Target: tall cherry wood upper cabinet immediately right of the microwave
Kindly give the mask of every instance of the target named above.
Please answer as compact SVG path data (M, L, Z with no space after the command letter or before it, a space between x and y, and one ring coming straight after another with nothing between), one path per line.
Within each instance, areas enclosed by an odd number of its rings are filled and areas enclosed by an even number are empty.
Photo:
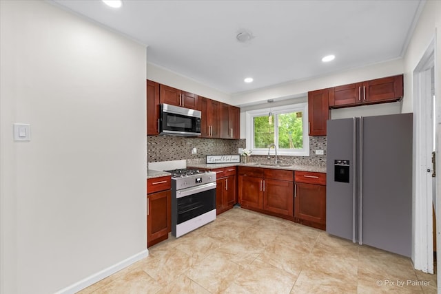
M202 138L220 138L220 102L199 96Z

